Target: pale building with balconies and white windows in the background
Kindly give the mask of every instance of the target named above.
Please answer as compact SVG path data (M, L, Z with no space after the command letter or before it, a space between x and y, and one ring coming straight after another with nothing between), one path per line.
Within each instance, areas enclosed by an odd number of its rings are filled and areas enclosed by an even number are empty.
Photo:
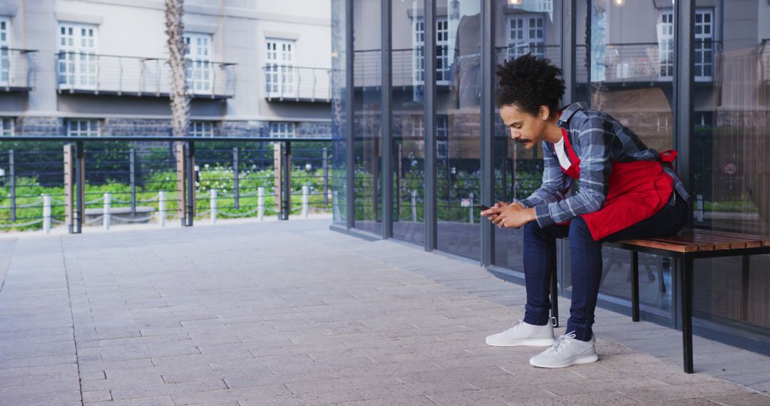
M189 135L330 133L330 2L186 0ZM170 135L162 0L0 1L4 135Z

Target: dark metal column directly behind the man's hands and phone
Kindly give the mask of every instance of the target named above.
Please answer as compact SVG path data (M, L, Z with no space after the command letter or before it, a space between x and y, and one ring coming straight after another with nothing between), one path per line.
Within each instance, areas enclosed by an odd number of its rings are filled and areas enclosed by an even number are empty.
M481 2L481 204L494 201L494 13L497 2ZM494 228L491 221L481 221L481 266L492 265Z

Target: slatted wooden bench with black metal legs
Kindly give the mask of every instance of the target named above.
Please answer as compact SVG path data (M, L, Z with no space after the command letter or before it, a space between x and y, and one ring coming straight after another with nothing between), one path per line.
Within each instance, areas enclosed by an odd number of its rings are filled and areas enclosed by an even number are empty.
M743 256L742 289L748 291L748 255L770 254L770 237L743 235L724 231L685 229L668 237L642 238L605 243L604 246L632 251L631 254L631 319L639 321L639 252L676 258L671 280L678 293L681 309L681 334L684 348L685 372L693 373L692 364L692 278L693 261L699 258ZM556 272L551 279L551 316L558 324ZM675 298L677 295L674 296ZM676 304L675 304L676 305ZM748 312L748 301L742 305L742 314ZM676 316L674 316L676 318Z

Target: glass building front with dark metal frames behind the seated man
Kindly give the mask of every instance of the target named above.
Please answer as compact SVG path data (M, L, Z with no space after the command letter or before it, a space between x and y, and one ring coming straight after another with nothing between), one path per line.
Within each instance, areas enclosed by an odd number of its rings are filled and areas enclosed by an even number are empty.
M564 105L607 111L676 149L691 226L770 235L767 0L333 0L333 228L397 238L523 281L522 236L474 204L525 198L540 148L508 138L495 65L564 71ZM568 241L559 290L571 295ZM601 304L629 311L630 254L604 249ZM678 327L673 260L641 255L643 317ZM748 265L748 266L744 266ZM770 351L770 258L695 262L695 333ZM646 273L644 272L646 271ZM629 311L630 312L630 311Z

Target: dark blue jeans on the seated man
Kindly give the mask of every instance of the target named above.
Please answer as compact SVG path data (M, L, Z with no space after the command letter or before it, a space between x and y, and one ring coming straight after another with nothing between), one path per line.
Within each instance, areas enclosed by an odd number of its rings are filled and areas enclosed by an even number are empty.
M574 331L578 340L588 341L593 334L594 309L601 284L601 243L630 238L673 235L687 222L687 201L678 193L651 218L639 221L601 241L594 241L588 225L580 216L570 225L541 228L533 221L524 225L524 278L527 283L527 305L524 322L544 325L549 321L551 301L551 269L555 269L556 239L569 238L572 252L572 305L567 332Z

